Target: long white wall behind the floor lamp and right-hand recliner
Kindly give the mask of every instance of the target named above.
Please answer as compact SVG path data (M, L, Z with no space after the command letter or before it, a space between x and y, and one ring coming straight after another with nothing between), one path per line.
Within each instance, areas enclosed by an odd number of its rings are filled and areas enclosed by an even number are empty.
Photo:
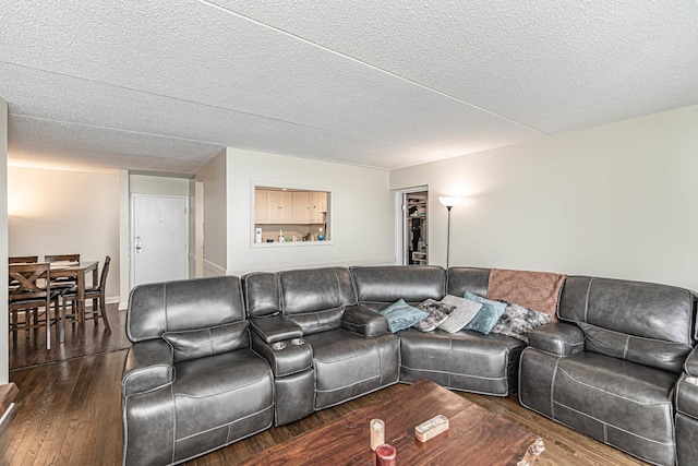
M430 256L450 265L650 280L698 290L698 106L395 170L429 184Z

